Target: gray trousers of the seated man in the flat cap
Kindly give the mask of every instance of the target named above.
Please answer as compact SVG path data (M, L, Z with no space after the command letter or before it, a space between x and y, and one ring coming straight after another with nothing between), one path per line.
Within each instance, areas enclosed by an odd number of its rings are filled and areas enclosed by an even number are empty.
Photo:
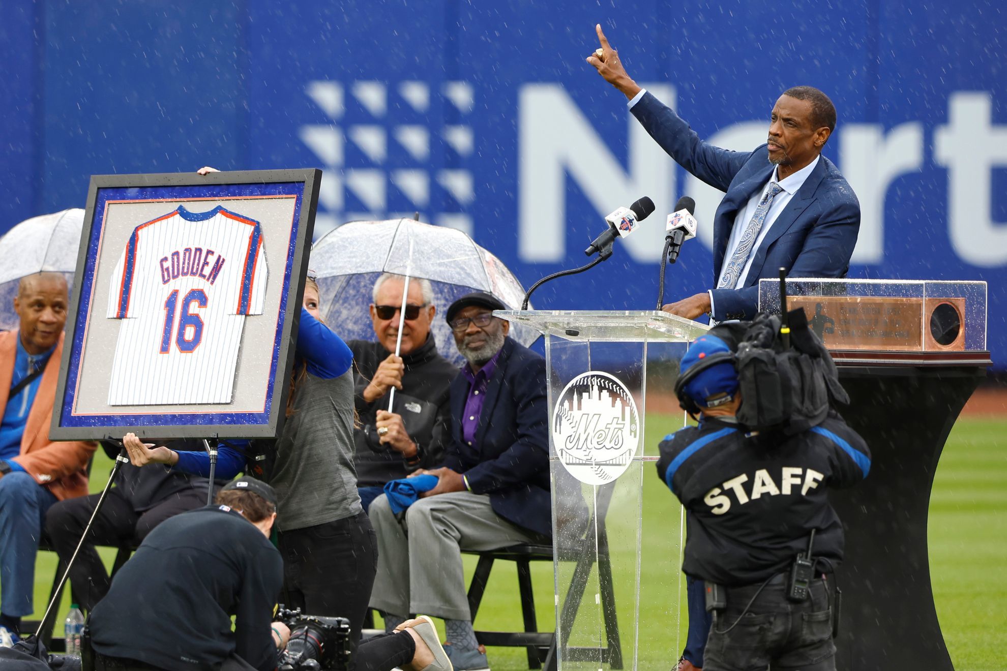
M400 523L383 494L371 504L378 575L371 607L408 618L471 620L461 550L492 550L535 540L497 516L485 494L450 492L419 499Z

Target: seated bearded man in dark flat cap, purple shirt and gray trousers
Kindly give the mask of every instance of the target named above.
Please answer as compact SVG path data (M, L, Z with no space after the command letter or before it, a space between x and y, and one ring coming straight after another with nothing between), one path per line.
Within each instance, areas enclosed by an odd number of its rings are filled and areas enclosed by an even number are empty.
M447 310L468 361L451 383L452 440L437 476L396 518L381 496L371 504L378 576L371 606L386 629L412 613L443 618L457 671L488 669L472 631L460 550L550 543L546 361L508 337L505 306L489 294L463 296Z

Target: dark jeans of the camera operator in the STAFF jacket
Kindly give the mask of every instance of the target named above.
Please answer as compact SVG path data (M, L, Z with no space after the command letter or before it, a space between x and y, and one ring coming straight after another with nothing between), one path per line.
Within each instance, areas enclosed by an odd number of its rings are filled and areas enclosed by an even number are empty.
M713 617L703 671L764 671L770 665L772 671L834 671L825 580L813 580L811 598L795 604L785 596L786 576L775 575L744 613L758 588L727 590L727 608Z

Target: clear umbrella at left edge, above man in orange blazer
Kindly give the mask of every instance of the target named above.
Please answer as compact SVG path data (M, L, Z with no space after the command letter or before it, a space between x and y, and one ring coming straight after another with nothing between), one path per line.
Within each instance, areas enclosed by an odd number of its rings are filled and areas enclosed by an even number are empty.
M0 237L0 330L18 326L14 297L26 275L62 273L73 289L83 226L84 210L75 207L25 219Z

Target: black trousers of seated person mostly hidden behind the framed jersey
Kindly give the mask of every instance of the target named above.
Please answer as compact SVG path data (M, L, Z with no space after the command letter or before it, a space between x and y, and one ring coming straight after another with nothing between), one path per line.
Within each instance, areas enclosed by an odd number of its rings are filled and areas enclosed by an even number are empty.
M92 494L66 499L49 508L45 515L45 532L61 559L69 561L74 555L100 497L101 494ZM88 542L81 548L69 571L69 581L74 594L81 600L81 608L91 612L108 594L112 582L95 545L139 544L164 520L204 505L206 490L186 489L139 513L115 490L109 492L88 532Z

